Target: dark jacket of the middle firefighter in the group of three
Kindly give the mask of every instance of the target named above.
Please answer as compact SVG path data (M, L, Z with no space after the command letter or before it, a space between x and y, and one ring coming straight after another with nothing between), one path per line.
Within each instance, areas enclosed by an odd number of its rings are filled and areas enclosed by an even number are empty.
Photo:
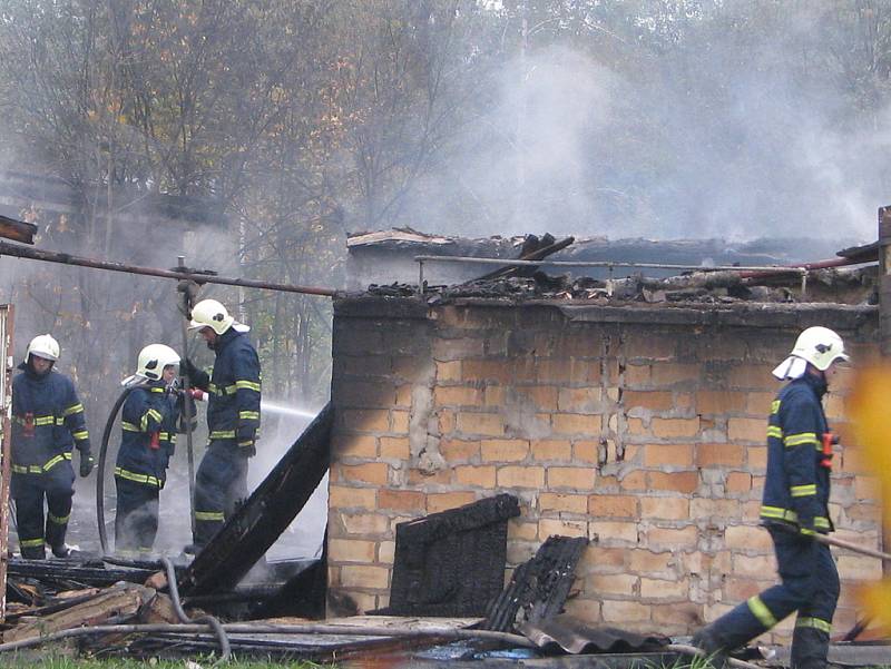
M115 475L164 488L167 464L174 454L182 400L168 393L163 381L130 391L121 411L121 440ZM153 434L157 433L157 447Z

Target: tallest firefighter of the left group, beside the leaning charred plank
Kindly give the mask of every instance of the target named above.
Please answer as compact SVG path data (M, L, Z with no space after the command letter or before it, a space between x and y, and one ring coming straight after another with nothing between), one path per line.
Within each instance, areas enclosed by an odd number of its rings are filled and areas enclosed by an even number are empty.
M195 480L195 532L187 552L198 552L247 496L247 460L256 454L260 429L260 358L245 333L216 299L192 309L197 329L214 352L210 375L183 361L192 385L208 393L207 450Z

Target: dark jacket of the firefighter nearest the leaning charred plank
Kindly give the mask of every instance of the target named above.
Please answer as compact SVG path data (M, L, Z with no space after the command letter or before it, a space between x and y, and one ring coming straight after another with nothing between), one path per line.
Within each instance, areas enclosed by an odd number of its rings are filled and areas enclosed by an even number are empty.
M208 437L237 440L253 449L260 429L260 358L247 335L231 327L217 340L213 373L195 374L193 385L206 390Z

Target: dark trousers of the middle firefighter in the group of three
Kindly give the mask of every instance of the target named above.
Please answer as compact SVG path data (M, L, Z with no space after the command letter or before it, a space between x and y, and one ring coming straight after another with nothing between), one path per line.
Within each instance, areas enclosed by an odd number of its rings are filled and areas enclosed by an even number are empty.
M115 552L129 558L150 553L158 533L158 488L120 476L115 476Z

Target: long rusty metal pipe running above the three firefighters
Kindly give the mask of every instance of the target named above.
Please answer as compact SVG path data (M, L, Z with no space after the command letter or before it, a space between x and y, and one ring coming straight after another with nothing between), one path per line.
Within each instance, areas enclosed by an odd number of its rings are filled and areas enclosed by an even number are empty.
M42 260L45 263L59 263L62 265L76 265L78 267L91 267L92 269L107 269L109 272L123 272L125 274L141 274L157 278L173 278L175 281L194 281L196 284L222 284L225 286L239 286L244 288L263 288L265 291L281 291L283 293L302 293L304 295L322 295L333 297L336 291L332 288L320 288L317 286L297 286L292 284L273 284L268 282L255 281L251 278L229 278L215 274L202 274L190 272L174 272L172 269L158 269L156 267L139 267L125 263L109 263L108 260L96 260L94 258L82 258L67 253L55 250L41 250L27 246L18 246L8 242L0 242L0 256L13 256L29 260Z

